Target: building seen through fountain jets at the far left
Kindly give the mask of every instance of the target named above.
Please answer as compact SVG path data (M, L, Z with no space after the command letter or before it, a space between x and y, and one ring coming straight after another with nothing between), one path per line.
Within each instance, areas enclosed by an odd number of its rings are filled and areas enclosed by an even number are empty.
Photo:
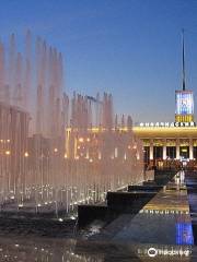
M26 183L30 115L0 102L0 191L13 193Z

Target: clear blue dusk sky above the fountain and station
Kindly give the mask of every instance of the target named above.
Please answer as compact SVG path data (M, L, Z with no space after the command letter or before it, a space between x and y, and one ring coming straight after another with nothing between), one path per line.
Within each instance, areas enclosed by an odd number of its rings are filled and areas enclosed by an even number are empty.
M197 117L196 0L1 0L0 38L30 28L63 55L65 90L111 92L135 121L172 121L181 88L185 28L186 88Z

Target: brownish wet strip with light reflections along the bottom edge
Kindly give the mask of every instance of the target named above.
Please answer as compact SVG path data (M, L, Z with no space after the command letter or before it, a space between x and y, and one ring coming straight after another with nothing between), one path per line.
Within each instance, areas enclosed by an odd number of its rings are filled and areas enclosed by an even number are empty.
M192 260L193 259L193 260ZM45 238L0 238L0 261L104 262L104 261L195 261L190 246L121 245Z

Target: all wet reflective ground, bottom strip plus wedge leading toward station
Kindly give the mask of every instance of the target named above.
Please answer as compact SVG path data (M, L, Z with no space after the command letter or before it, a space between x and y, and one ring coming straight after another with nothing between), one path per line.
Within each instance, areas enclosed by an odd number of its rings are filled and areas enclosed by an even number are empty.
M97 221L67 238L1 234L0 261L197 261L189 198L181 172L138 214L123 214L107 226Z

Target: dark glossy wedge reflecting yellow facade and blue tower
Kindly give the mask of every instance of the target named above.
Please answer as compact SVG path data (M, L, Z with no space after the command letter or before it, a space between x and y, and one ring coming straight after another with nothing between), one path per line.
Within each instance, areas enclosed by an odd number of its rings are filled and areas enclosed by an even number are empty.
M193 245L184 174L176 175L137 215L120 215L101 233L91 236L91 239L111 239L126 243Z

